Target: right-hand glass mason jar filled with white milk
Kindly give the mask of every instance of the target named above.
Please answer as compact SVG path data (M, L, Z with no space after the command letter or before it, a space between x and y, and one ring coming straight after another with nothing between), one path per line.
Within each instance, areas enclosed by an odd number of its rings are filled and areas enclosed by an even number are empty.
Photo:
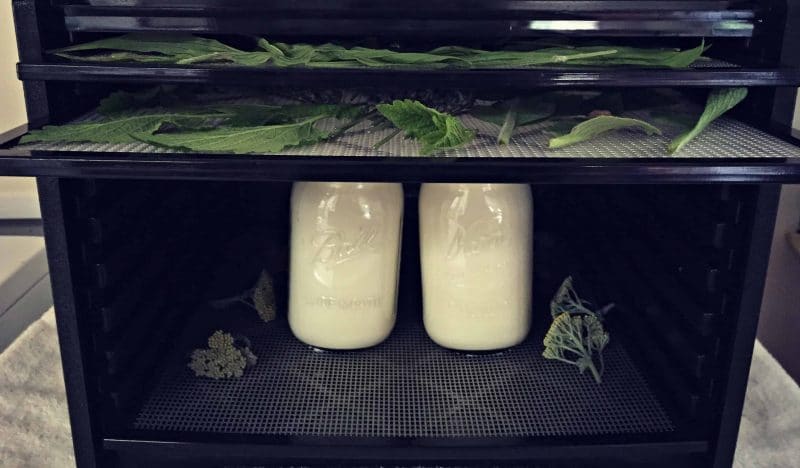
M521 184L423 184L425 330L441 346L519 344L531 323L533 200Z

